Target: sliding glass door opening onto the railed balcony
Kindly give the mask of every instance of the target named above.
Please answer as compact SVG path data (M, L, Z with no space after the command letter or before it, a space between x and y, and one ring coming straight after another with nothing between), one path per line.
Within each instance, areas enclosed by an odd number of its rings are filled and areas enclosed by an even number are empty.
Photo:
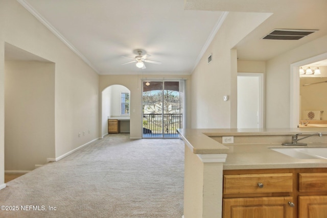
M143 138L177 138L183 128L184 81L143 81Z

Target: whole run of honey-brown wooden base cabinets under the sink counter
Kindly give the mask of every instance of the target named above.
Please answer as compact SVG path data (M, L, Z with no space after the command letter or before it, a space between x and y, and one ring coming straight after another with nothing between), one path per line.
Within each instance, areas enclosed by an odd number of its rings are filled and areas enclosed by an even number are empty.
M327 168L223 171L223 218L326 218Z

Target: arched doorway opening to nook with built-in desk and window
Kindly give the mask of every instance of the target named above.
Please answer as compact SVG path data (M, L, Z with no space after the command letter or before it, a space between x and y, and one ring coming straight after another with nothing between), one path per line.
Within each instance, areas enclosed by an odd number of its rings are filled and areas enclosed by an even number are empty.
M108 119L117 120L118 132L130 132L130 90L110 85L102 91L102 136L108 134Z

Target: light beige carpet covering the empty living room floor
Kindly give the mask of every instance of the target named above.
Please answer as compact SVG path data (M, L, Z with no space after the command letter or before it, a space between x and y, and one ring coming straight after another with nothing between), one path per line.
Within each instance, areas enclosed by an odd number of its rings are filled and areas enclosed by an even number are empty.
M0 206L19 210L0 210L0 217L181 218L183 154L180 139L107 135L8 182L0 190ZM22 211L22 205L39 210Z

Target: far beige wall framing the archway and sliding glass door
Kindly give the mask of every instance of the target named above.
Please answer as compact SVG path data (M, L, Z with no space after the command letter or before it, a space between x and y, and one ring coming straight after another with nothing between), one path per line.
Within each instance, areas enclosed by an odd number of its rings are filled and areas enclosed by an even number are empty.
M101 75L99 92L101 93L106 87L111 85L123 85L130 90L130 138L142 137L142 78L151 79L186 79L186 126L190 123L191 110L191 76L189 75ZM102 107L100 107L102 108ZM100 113L102 114L102 112ZM104 123L107 117L101 117L101 122ZM103 128L104 127L100 127Z

